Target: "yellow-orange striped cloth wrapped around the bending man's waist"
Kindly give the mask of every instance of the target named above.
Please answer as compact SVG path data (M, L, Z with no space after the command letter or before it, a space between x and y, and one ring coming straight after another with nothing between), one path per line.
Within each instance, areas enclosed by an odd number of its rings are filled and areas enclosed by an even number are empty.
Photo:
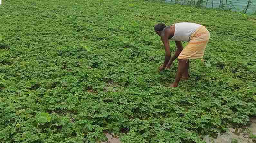
M209 31L204 26L201 26L190 37L191 40L182 50L178 59L202 59L204 57L204 50L210 38Z

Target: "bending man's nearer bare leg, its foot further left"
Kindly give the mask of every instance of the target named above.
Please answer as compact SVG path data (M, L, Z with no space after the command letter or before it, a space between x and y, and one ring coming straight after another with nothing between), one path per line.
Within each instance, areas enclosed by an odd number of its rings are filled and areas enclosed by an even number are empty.
M181 79L181 76L184 74L185 69L186 69L187 60L178 59L178 61L179 61L179 63L178 63L177 75L176 75L175 81L171 85L171 87L177 87L178 86L178 83L179 83L179 81Z

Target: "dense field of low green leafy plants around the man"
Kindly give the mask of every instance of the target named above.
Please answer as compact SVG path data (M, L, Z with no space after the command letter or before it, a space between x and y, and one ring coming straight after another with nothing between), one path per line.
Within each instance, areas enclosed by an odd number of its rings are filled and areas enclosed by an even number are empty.
M203 142L256 116L256 20L144 0L4 0L0 142ZM169 88L159 22L210 31L204 62ZM186 43L183 43L184 46ZM170 42L175 52L174 42Z

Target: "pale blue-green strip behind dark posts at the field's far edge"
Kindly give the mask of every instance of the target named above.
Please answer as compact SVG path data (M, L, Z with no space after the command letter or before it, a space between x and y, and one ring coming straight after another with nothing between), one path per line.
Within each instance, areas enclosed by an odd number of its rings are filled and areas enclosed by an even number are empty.
M182 4L182 5L187 5L187 4L196 4L198 1L201 0L165 0L166 2L169 3L177 3L177 4ZM203 7L208 7L208 8L219 8L220 3L223 9L232 9L233 11L239 11L242 12L245 10L248 4L248 0L202 0L203 1ZM247 12L248 14L253 14L256 12L256 0L250 0L251 4L249 5ZM207 5L206 5L207 2Z

